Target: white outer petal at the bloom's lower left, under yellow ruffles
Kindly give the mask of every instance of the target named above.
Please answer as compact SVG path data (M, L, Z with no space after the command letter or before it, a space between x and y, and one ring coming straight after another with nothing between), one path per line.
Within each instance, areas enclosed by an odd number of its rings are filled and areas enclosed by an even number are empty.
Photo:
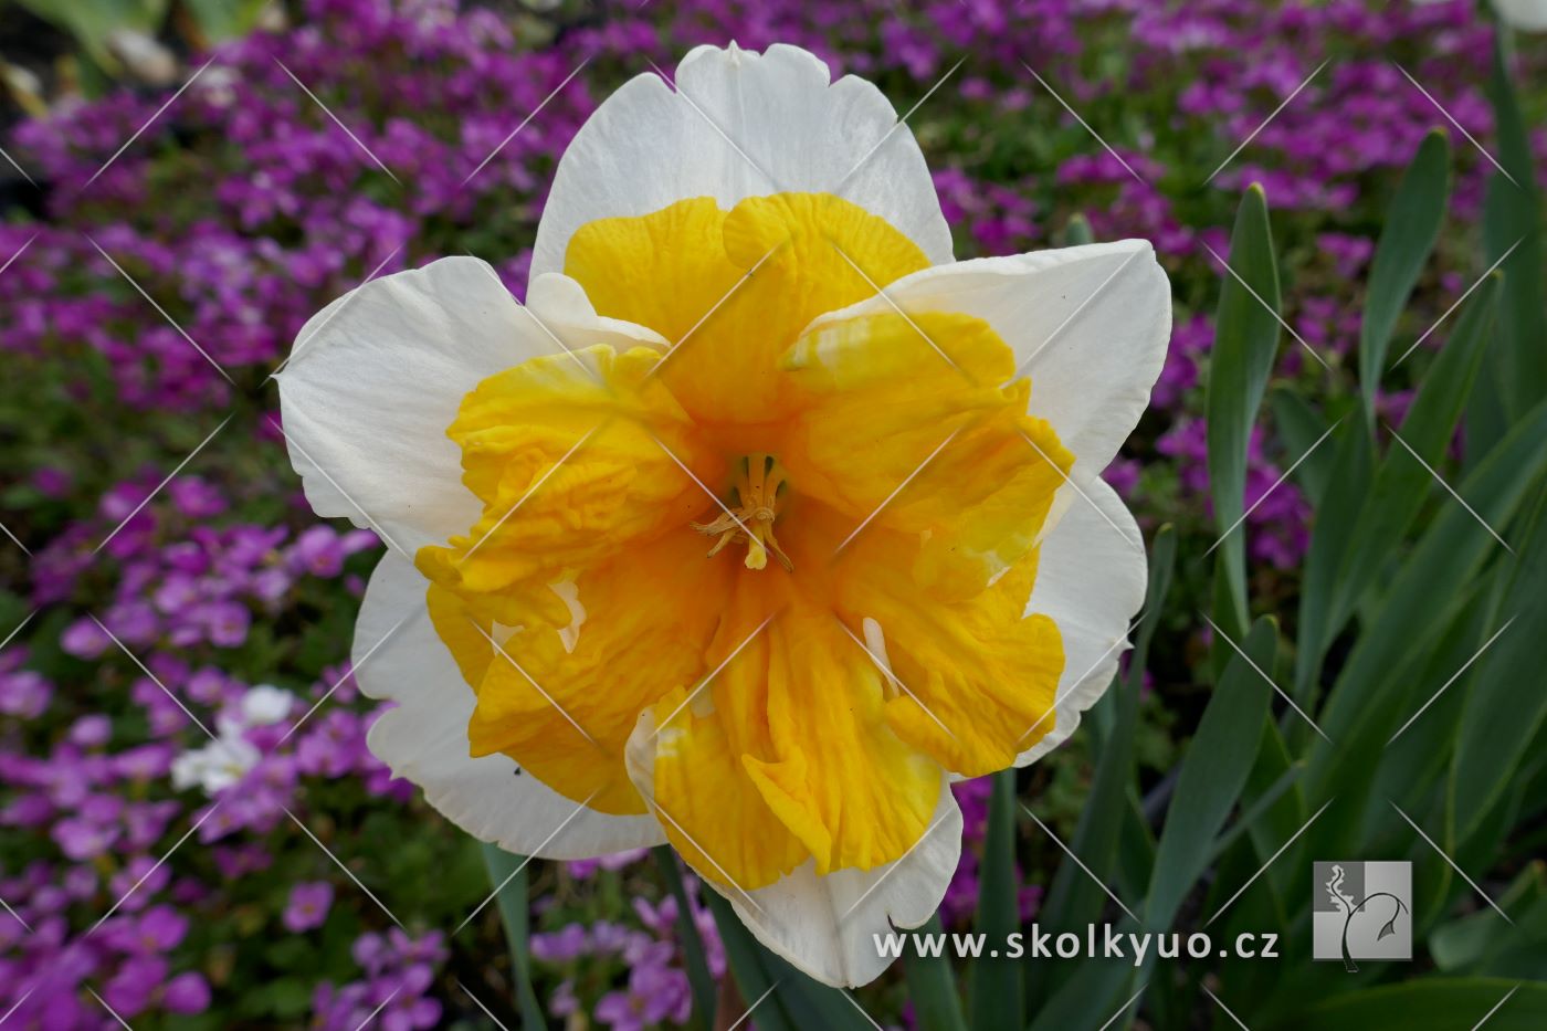
M387 553L371 574L354 629L360 690L396 701L371 726L371 752L473 837L543 859L586 859L665 841L653 816L608 816L577 807L506 755L467 754L473 692L425 610L427 582ZM500 661L500 659L495 659Z

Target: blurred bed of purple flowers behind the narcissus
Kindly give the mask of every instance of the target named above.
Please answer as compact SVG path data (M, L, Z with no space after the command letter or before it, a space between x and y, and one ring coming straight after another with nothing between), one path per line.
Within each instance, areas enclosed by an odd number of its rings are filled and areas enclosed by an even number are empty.
M62 104L5 141L39 184L0 223L11 1026L118 1026L93 994L136 1028L509 1012L492 907L464 924L489 892L475 844L365 748L373 711L347 655L381 548L309 517L268 378L309 314L373 276L475 254L520 296L554 163L625 77L698 42L800 43L876 79L900 111L927 98L910 125L959 257L1057 246L1081 217L1095 238L1154 240L1176 333L1156 407L1109 478L1146 529L1174 522L1194 553L1210 540L1214 255L1241 189L1262 183L1273 204L1284 317L1304 337L1278 382L1320 404L1354 389L1397 170L1434 125L1482 146L1491 133L1479 70L1493 31L1465 0L308 0L291 23L195 56L179 90ZM1533 142L1547 153L1547 136ZM1482 271L1470 255L1491 167L1463 142L1457 155L1439 271L1405 316L1414 336ZM1248 506L1293 458L1253 443ZM1289 481L1252 511L1256 598L1295 596L1307 517ZM1196 567L1180 574L1187 598L1207 596ZM1196 714L1199 641L1185 616L1170 630L1146 670L1149 779ZM1067 825L1080 742L1036 777ZM987 782L958 794L968 847L948 927L976 904ZM1023 850L1026 915L1040 859L1057 858L1046 848ZM554 1017L687 1020L676 901L642 858L534 865L532 955ZM695 918L718 974L713 923ZM908 1020L897 978L863 997Z

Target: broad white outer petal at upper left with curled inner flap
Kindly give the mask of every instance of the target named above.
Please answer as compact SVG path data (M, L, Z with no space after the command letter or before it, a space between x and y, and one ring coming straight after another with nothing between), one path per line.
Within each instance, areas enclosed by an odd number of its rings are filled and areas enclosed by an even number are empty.
M278 375L280 410L319 516L345 516L408 554L467 533L481 506L446 429L480 379L562 347L665 347L599 319L562 276L529 293L523 308L486 262L450 257L374 279L302 327Z

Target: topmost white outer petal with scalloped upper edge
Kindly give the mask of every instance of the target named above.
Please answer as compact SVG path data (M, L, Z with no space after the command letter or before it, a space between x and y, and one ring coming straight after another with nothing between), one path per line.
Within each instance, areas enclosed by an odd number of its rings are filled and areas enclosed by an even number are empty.
M838 194L885 218L931 263L950 262L950 228L913 132L873 84L831 77L798 46L758 54L732 43L690 51L676 90L651 73L630 79L565 150L532 274L563 271L569 238L597 218L690 197L729 209L784 190Z

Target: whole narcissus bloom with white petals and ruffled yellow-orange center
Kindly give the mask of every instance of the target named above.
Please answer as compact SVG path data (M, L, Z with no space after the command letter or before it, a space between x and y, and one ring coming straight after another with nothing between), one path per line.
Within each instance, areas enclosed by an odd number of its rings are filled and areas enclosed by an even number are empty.
M1143 241L953 263L913 135L809 53L628 82L524 307L435 262L280 379L312 508L393 546L371 749L511 851L671 842L775 952L871 980L956 867L951 780L1112 676L1145 562L1098 474L1168 334Z

